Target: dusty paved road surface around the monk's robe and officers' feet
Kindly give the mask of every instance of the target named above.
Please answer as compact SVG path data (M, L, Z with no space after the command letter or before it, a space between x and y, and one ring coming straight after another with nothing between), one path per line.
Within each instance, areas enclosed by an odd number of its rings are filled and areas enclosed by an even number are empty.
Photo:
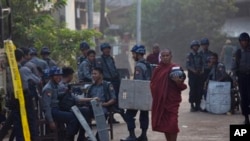
M182 93L182 103L179 111L178 141L229 141L229 125L240 124L243 117L240 113L234 115L215 115L204 112L189 112L188 92ZM139 115L139 114L138 114ZM115 115L119 121L122 121L119 115ZM136 119L136 135L140 135L139 120ZM151 123L150 123L151 124ZM114 125L114 141L120 141L120 138L128 135L127 127L124 121ZM149 141L165 141L162 133L153 132L151 126L148 130Z

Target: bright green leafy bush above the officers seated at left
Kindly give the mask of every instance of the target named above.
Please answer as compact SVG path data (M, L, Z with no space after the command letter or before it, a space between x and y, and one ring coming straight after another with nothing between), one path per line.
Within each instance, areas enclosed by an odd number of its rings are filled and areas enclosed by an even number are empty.
M74 31L65 28L65 24L57 23L51 16L43 17L41 25L30 27L28 38L33 39L34 46L40 49L48 46L51 56L60 65L70 65L76 68L76 57L79 53L79 44L83 40L95 46L93 37L100 37L95 30Z

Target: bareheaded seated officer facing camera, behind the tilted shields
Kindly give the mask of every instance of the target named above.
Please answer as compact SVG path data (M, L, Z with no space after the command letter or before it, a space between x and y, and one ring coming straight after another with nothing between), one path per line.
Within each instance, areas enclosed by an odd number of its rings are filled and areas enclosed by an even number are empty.
M105 114L109 108L116 103L115 90L110 82L103 80L103 71L101 68L94 68L92 71L94 83L89 87L87 97L98 97L102 103Z

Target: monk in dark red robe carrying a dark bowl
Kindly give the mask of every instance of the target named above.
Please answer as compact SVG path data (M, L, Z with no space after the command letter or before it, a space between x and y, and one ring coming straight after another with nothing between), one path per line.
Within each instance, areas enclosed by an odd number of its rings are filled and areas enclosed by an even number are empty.
M165 133L167 141L176 141L181 91L187 85L178 76L169 77L172 68L177 66L171 63L172 54L169 49L163 50L159 59L159 66L155 68L150 84L153 97L152 128Z

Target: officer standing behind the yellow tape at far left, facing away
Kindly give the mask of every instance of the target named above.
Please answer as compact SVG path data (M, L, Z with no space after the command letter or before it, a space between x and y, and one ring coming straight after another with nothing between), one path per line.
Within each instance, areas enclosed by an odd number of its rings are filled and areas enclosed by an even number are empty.
M35 84L38 84L41 82L41 79L37 77L35 74L31 72L31 70L28 67L22 66L21 63L23 61L24 53L21 49L15 50L15 56L19 67L19 72L22 80L23 85L23 93L24 93L24 99L25 99L25 107L27 110L27 117L28 117L28 123L30 127L30 133L31 133L31 140L36 140L36 137L38 136L37 129L36 129L36 115L34 112L34 105L32 101L32 95L29 91L29 81L32 81ZM22 122L20 117L20 109L18 101L16 101L17 105L13 108L13 124L14 124L14 134L16 136L17 141L23 141L23 129L22 129ZM15 104L13 104L15 105Z

